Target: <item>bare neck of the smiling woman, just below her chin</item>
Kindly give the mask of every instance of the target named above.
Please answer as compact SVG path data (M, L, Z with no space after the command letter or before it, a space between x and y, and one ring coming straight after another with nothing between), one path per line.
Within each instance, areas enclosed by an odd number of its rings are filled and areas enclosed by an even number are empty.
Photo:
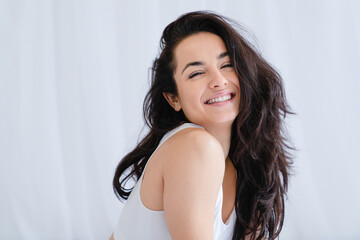
M225 159L227 159L230 150L231 126L231 123L203 126L208 133L219 141L224 151Z

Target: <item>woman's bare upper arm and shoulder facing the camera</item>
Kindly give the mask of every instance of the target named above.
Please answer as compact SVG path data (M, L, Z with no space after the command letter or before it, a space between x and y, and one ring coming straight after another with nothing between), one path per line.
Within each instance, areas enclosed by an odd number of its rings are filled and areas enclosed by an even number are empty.
M180 133L168 140L163 152L166 223L173 239L213 239L224 154L204 130Z

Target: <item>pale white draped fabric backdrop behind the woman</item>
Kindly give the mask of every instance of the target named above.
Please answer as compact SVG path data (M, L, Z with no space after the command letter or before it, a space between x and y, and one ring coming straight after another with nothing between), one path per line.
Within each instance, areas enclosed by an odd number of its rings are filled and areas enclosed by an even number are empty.
M110 236L161 32L200 9L256 36L297 113L281 239L360 239L356 0L0 0L0 239Z

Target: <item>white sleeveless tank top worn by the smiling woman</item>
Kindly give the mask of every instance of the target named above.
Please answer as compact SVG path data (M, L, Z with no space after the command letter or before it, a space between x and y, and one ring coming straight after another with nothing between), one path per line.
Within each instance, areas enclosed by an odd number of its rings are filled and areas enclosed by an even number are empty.
M198 125L192 123L184 123L177 128L169 131L161 139L156 150L172 135L185 128L201 128ZM156 151L155 150L155 151ZM154 152L155 152L154 151ZM154 154L154 153L153 153ZM152 154L152 155L153 155ZM132 192L126 201L116 229L114 231L115 240L168 240L171 239L169 230L166 226L166 220L164 211L150 210L144 206L140 199L140 188L145 172L146 166L151 160L150 156L148 162L145 165L144 171L141 174L139 180L135 184ZM230 240L232 239L233 229L236 219L235 208L231 212L231 215L226 223L222 220L222 202L223 191L222 185L220 187L216 205L215 205L215 218L214 218L214 239L215 240Z

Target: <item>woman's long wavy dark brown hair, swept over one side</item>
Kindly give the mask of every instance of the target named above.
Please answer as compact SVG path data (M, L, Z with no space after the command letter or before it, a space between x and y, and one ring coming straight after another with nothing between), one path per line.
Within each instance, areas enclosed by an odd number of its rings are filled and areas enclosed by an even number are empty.
M177 95L173 50L192 34L214 33L226 45L241 89L229 151L237 172L233 240L245 239L246 235L251 239L275 239L284 223L292 150L284 120L291 111L281 76L240 35L239 29L236 22L206 11L184 14L165 28L143 106L150 130L117 166L113 187L118 198L126 200L132 191L125 187L126 182L139 179L165 133L188 122L184 113L176 112L163 97L164 92Z

